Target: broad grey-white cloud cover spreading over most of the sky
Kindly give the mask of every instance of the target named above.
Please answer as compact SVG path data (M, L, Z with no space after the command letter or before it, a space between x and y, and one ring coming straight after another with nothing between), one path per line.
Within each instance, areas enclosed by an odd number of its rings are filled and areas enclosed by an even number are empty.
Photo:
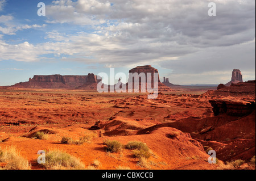
M208 16L209 2L216 3L217 16ZM59 0L46 8L46 23L67 23L79 31L47 32L47 43L28 43L32 58L27 61L52 53L65 61L112 67L154 64L176 77L235 67L255 71L255 1ZM2 17L7 18L12 16ZM6 25L0 31L11 34L24 28ZM25 51L24 43L13 46L5 45L6 52L17 47Z

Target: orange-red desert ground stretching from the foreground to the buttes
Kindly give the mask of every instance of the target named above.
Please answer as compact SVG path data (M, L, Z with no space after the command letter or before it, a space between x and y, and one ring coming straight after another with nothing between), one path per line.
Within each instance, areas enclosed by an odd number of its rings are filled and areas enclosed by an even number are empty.
M32 169L44 169L36 162L38 150L51 149L64 150L85 166L97 159L101 162L98 169L217 169L208 163L204 146L216 150L220 160L249 161L255 155L255 111L244 116L214 116L209 100L238 97L202 93L172 91L147 99L146 94L136 93L0 89L0 147L15 146ZM255 100L255 92L239 99ZM47 140L32 138L36 131L48 133ZM95 137L82 145L60 143L64 136L79 140L88 134ZM150 168L137 165L133 150L106 153L103 142L107 139L123 145L146 143L152 151Z

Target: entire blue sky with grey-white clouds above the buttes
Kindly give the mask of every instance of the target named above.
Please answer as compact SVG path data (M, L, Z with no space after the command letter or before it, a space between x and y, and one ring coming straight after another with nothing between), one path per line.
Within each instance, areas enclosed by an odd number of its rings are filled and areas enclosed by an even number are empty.
M0 86L139 65L179 85L255 79L255 1L0 0Z

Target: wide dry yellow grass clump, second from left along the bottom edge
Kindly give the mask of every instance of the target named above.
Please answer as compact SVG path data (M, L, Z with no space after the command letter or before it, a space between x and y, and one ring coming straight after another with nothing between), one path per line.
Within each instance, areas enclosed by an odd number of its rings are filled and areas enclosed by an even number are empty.
M78 158L60 150L48 151L44 166L50 170L84 169L84 164Z

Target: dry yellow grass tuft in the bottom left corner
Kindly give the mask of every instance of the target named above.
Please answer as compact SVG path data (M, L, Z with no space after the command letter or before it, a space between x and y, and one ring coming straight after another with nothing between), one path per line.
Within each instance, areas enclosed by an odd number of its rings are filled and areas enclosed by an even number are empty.
M24 159L13 146L5 150L0 148L0 162L7 163L4 167L0 167L4 170L29 170L31 167L27 159Z

